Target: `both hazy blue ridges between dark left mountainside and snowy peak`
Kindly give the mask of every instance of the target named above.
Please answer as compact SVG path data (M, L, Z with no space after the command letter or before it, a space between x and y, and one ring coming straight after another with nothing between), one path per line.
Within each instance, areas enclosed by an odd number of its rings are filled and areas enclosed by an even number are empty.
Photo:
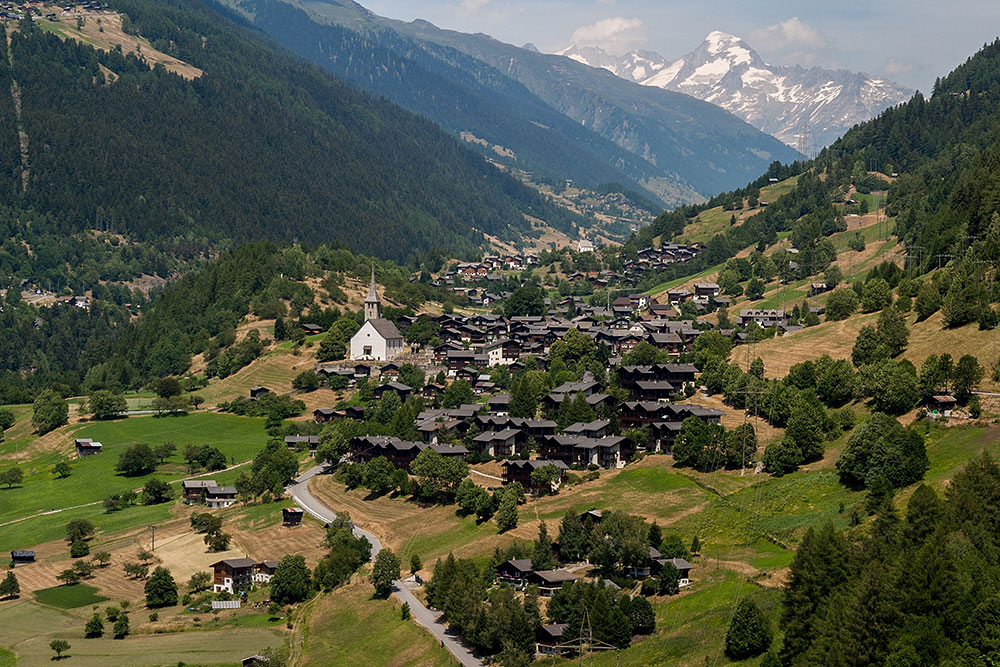
M542 179L616 181L676 205L799 157L714 105L487 35L380 17L350 0L224 4L298 55Z

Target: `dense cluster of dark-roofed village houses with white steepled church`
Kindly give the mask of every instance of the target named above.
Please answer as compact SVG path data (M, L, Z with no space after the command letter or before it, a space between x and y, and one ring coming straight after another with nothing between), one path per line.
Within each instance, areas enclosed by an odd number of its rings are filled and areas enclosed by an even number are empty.
M503 482L519 482L529 492L538 492L532 472L551 465L560 471L560 480L552 483L558 488L566 472L573 468L621 468L636 454L636 447L620 435L627 428L647 427L650 452L669 452L681 424L689 417L718 423L722 413L696 404L676 402L695 382L697 369L689 363L656 363L646 366L622 365L621 357L638 344L646 342L658 351L675 359L691 350L701 333L693 320L667 319L673 311L669 306L652 302L645 294L635 294L616 301L612 319L595 309L582 306L578 314L567 317L569 308L556 304L547 316L505 318L495 314L439 315L434 321L440 326L442 342L428 350L425 367L445 371L451 381L468 382L474 396L482 402L453 408L426 409L416 416L415 430L419 441L397 437L359 436L350 445L352 460L366 463L385 457L397 468L408 469L417 456L426 449L446 457L466 458L470 454L503 462ZM668 312L669 311L669 312ZM606 312L606 311L605 311ZM370 342L379 328L373 323L381 320L380 300L374 275L365 302L365 326L352 339ZM398 320L404 331L416 318ZM390 323L391 324L391 323ZM399 328L392 324L393 338ZM580 381L569 381L555 387L541 398L541 409L553 414L565 401L582 398L595 415L610 416L616 413L615 428L608 418L578 422L559 429L556 422L541 418L518 418L509 414L511 395L498 391L491 379L490 368L505 366L512 373L525 368L525 359L531 357L540 370L548 364L551 346L566 334L576 330L605 346L611 358L608 367L617 374L617 386L628 392L628 399L621 405L605 391L606 387L588 372ZM379 357L388 340L376 342L374 352L362 357ZM353 356L353 355L352 355ZM395 356L395 355L394 355ZM392 357L390 357L391 359ZM317 364L320 375L344 377L348 386L364 380L374 383L372 397L380 399L386 392L396 392L405 402L418 391L400 382L400 366L396 361L374 364L369 361L347 365L342 363ZM446 380L447 382L447 380ZM264 388L258 388L263 390ZM430 382L419 389L420 395L434 401L447 389L446 383ZM579 398L578 398L579 397ZM336 419L364 420L365 406L353 405L342 409L318 408L313 412L319 423ZM469 436L471 429L475 429ZM315 450L315 436L288 436L289 447L308 445ZM456 444L456 440L464 444ZM530 458L529 452L535 453Z

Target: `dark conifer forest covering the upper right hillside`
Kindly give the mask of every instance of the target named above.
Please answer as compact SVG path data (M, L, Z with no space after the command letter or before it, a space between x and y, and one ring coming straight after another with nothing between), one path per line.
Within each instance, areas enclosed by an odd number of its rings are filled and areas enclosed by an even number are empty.
M774 164L742 190L664 213L630 245L677 236L713 206L739 208L745 198L756 198L768 177L783 179L808 171L812 175L800 178L775 205L710 239L707 251L678 267L676 275L704 270L760 241L771 244L781 232L811 238L811 245L796 246L809 252L820 236L838 231L838 212L831 203L843 201L852 187L863 194L881 190L906 251L906 268L921 274L947 267L935 274L940 297L953 291L964 294L961 301L969 304L948 323L974 321L980 303L996 298L984 285L994 280L995 263L1000 261L998 129L1000 42L995 42L939 79L932 98L917 93L906 104L856 126L813 161L790 167Z

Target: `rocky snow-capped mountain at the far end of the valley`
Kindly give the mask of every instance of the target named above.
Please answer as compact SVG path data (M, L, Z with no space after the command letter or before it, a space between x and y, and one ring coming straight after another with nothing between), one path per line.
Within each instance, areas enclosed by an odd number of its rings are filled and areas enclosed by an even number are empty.
M769 65L742 39L718 31L672 63L650 51L612 56L597 47L571 46L557 55L711 102L806 152L913 93L864 73Z

